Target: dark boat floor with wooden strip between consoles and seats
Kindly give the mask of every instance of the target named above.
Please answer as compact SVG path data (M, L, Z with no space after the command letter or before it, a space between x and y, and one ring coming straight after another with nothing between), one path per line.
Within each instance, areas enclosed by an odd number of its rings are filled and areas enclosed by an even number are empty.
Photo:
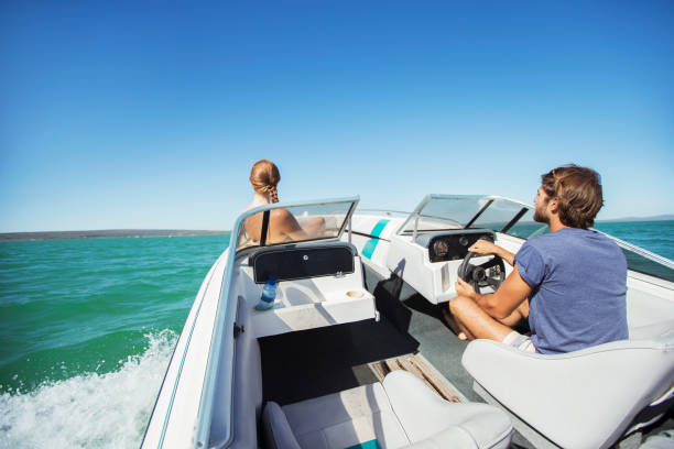
M379 382L387 371L406 369L448 401L483 402L460 362L467 342L442 320L442 306L428 303L396 276L382 278L367 267L365 274L379 321L259 339L263 401L292 404ZM515 435L513 447L532 446Z

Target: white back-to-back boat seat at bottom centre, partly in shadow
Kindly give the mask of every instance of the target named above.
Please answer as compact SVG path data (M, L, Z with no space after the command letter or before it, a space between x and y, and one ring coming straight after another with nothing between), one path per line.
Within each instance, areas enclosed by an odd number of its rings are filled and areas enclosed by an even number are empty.
M284 407L269 402L262 425L273 449L507 448L512 436L497 407L447 402L404 371Z

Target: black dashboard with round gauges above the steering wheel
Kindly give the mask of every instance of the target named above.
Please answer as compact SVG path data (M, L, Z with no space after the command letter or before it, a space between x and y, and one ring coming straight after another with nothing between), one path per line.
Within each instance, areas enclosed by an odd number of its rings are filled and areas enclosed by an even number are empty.
M493 242L496 234L488 229L457 229L418 236L416 242L428 249L431 262L458 261L466 258L468 248L478 240Z

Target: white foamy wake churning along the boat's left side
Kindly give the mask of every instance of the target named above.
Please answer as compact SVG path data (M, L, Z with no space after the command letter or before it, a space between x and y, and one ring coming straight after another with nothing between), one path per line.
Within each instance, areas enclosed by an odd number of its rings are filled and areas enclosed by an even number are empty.
M145 336L150 346L119 371L0 395L0 448L138 448L177 336Z

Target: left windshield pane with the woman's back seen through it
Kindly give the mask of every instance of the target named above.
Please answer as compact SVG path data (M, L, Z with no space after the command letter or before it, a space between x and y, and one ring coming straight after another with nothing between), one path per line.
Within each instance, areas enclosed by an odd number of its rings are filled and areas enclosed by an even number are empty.
M339 239L357 204L355 197L309 204L278 202L248 210L237 220L237 252L252 247Z

